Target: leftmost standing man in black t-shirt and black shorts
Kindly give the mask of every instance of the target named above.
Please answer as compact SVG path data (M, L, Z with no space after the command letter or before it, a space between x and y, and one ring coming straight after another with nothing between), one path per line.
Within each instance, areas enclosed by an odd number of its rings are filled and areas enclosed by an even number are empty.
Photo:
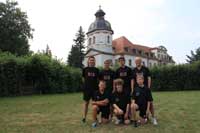
M94 92L98 90L99 70L95 67L95 58L93 56L88 58L88 67L82 71L83 77L83 100L84 114L82 121L86 121L88 112L88 105L91 98L94 97Z

